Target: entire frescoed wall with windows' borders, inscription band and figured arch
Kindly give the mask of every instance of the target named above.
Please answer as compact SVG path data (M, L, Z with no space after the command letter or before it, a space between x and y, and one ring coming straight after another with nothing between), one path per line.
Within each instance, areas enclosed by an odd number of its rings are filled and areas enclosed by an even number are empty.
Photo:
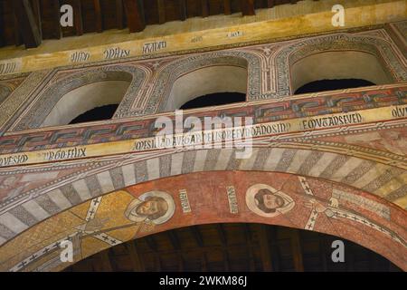
M0 268L62 269L67 237L79 259L157 231L236 221L348 238L406 269L405 24L2 77ZM292 62L341 50L371 53L391 83L292 95ZM247 102L186 116L252 117L250 159L151 145L156 118L175 119L162 109L177 76L241 63ZM112 120L39 129L64 93L123 77L131 83Z

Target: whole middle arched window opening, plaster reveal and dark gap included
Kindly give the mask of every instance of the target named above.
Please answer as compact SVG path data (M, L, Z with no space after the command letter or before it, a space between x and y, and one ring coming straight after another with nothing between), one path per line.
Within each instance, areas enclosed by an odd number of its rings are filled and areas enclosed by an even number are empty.
M244 102L247 67L214 65L185 73L173 84L166 111Z

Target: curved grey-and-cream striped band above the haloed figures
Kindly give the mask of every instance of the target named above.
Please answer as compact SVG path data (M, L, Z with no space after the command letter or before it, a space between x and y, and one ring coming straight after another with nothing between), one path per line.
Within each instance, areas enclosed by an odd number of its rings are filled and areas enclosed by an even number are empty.
M67 208L141 182L213 170L279 171L327 179L362 189L397 204L407 193L407 172L387 164L334 152L291 148L253 148L237 160L234 149L192 150L129 160L44 192L0 216L0 244Z

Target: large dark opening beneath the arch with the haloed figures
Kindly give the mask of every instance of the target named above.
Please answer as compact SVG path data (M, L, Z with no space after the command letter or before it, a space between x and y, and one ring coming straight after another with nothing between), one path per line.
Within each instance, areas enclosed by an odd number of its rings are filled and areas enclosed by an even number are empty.
M332 243L338 239L344 242L343 263L335 263L331 258ZM182 227L131 240L89 256L65 271L389 272L401 269L383 256L342 238L290 227L233 223Z

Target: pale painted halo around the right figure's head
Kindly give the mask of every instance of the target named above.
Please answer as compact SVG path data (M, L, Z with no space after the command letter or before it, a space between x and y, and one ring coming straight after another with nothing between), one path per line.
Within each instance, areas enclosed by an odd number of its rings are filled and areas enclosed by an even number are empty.
M284 200L284 204L281 208L276 208L275 212L271 213L265 213L262 211L257 204L256 198L254 196L261 190L261 189L267 189L270 190L270 192L275 195L279 196ZM279 216L280 214L284 214L286 212L289 212L292 208L295 206L295 202L292 198L289 197L289 195L285 194L284 192L281 192L277 189L274 189L270 187L267 184L255 184L252 185L249 189L246 191L246 205L247 207L254 212L255 214L259 215L260 217L264 218L273 218L276 216Z

